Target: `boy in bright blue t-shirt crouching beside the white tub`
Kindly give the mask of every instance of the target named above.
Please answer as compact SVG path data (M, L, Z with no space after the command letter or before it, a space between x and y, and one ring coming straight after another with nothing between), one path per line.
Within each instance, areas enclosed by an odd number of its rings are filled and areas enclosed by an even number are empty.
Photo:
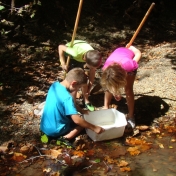
M74 98L78 89L87 83L87 76L81 68L69 71L62 82L54 82L49 88L44 111L41 117L40 130L48 137L63 136L68 140L78 135L83 128L89 128L100 134L103 128L90 124L78 114L88 113L76 107Z

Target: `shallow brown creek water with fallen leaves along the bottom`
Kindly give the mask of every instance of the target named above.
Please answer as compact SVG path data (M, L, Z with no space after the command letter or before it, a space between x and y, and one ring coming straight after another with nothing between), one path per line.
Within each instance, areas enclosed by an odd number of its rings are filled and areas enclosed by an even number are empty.
M174 139L171 141L171 139ZM114 145L117 141L110 141L110 145ZM163 138L152 138L151 142L153 147L147 152L140 153L138 156L131 156L126 154L121 159L124 159L129 163L131 168L130 172L120 172L117 165L108 164L110 168L108 172L105 172L106 164L101 161L98 164L93 164L92 167L87 167L82 170L79 167L74 167L64 176L175 176L176 175L176 142L175 136L166 136ZM105 142L102 142L105 143ZM117 143L116 143L117 144ZM159 147L158 144L162 144ZM98 145L101 149L101 143ZM104 153L110 149L102 148ZM91 160L95 160L99 157L95 154ZM119 159L119 158L117 158ZM90 166L90 164L89 164ZM53 160L38 159L35 162L31 162L30 165L21 165L20 169L9 174L9 176L50 176L50 173L44 174L44 169L57 172L63 169L60 163L56 163Z

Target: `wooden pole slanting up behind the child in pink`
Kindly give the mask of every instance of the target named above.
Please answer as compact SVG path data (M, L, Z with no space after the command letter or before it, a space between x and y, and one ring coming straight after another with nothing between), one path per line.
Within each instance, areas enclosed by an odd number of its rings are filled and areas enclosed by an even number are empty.
M148 11L146 12L144 18L142 19L141 23L139 24L137 30L135 31L133 37L131 38L130 42L127 44L127 46L126 46L127 48L129 48L129 47L132 45L133 41L135 40L135 38L136 38L136 36L138 35L139 31L141 30L142 26L144 25L144 23L145 23L147 17L149 16L151 10L152 10L153 7L154 7L154 5L155 5L155 3L152 3L152 4L150 5L150 8L149 8Z

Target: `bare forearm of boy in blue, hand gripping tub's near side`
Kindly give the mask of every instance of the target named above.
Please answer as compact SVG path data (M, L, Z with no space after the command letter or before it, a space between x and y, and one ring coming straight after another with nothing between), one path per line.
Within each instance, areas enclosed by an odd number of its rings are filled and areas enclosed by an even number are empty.
M74 121L74 123L76 123L77 125L79 125L79 126L81 126L83 128L88 128L88 129L94 131L97 134L100 134L100 133L105 131L102 127L93 125L93 124L85 121L79 115L76 115L76 114L75 115L71 115L71 118Z

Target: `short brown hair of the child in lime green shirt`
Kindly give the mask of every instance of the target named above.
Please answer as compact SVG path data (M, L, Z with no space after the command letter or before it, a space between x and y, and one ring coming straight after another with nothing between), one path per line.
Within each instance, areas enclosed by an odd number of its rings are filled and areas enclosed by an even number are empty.
M90 50L85 54L86 63L93 67L99 67L102 62L102 55L97 50Z

